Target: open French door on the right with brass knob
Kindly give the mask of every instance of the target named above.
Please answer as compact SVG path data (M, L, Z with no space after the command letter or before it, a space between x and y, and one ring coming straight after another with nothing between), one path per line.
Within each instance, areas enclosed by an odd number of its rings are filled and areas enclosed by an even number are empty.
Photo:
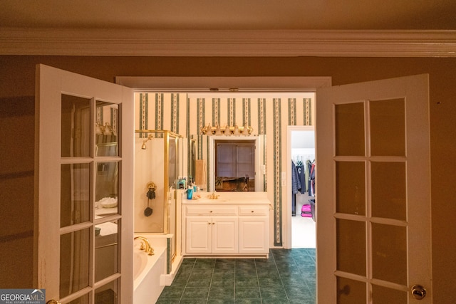
M316 100L318 303L432 303L427 75Z

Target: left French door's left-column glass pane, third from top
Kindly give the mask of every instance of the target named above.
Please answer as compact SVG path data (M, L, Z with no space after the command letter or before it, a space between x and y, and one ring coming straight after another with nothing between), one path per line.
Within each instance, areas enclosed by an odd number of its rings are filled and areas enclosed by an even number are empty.
M60 298L88 286L89 267L90 229L62 234L60 237Z

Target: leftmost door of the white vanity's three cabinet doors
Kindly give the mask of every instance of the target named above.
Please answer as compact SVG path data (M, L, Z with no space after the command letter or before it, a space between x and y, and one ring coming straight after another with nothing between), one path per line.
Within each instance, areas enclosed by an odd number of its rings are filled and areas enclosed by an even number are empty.
M187 216L186 252L212 253L212 217Z

